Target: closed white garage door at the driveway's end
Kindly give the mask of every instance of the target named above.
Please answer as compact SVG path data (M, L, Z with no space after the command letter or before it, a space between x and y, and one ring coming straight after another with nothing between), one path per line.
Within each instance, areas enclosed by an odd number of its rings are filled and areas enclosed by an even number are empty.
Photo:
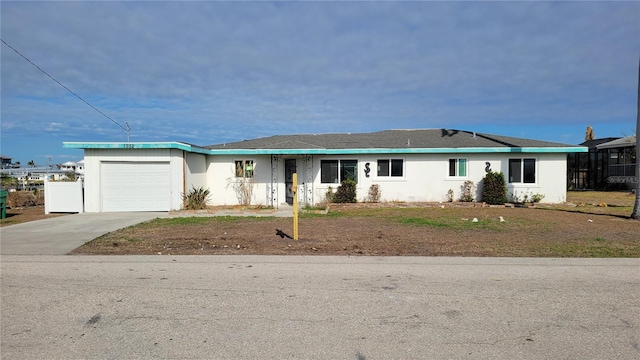
M169 211L168 162L103 162L102 211Z

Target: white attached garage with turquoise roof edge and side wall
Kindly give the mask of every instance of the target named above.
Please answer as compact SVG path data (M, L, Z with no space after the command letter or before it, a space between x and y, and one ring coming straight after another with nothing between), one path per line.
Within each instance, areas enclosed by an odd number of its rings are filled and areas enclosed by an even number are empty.
M84 149L85 212L179 210L188 189L207 187L207 149L177 142L64 145Z

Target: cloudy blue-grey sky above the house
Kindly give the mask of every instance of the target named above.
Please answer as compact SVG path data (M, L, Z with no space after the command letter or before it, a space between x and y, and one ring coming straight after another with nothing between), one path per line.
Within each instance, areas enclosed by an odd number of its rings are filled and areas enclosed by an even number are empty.
M448 128L635 133L640 1L0 2L0 153Z

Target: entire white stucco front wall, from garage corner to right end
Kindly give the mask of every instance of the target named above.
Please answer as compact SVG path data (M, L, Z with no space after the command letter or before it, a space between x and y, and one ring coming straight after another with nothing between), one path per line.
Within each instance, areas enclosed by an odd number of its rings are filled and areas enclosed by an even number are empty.
M493 171L501 171L505 178L509 173L510 158L535 158L536 179L534 184L507 184L508 195L514 191L519 195L527 193L543 194L543 203L560 203L566 200L566 155L565 154L403 154L386 155L344 155L344 156L209 156L207 181L212 191L211 205L236 205L239 199L234 190L234 164L236 160L253 160L255 163L255 185L252 204L277 207L285 203L284 184L285 159L294 158L298 168L300 203L319 203L325 199L329 186L335 191L339 184L322 184L320 178L321 160L358 160L358 201L366 201L369 187L378 184L382 192L380 201L406 202L446 202L447 192L452 189L454 200L458 201L462 185L471 180L476 185L476 200L480 200L481 180L484 178L487 162ZM449 177L449 159L467 159L466 177ZM378 159L402 159L402 177L377 176ZM275 160L273 162L272 160ZM309 168L307 161L311 161ZM365 164L371 169L365 176ZM309 169L311 174L309 177ZM311 180L309 182L308 180ZM272 189L271 183L276 185ZM270 197L269 193L273 192Z

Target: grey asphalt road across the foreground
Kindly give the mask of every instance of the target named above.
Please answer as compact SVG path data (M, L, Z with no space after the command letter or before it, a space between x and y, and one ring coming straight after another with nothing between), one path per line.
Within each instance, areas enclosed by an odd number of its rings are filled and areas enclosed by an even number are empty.
M1 260L4 360L640 358L640 259Z

